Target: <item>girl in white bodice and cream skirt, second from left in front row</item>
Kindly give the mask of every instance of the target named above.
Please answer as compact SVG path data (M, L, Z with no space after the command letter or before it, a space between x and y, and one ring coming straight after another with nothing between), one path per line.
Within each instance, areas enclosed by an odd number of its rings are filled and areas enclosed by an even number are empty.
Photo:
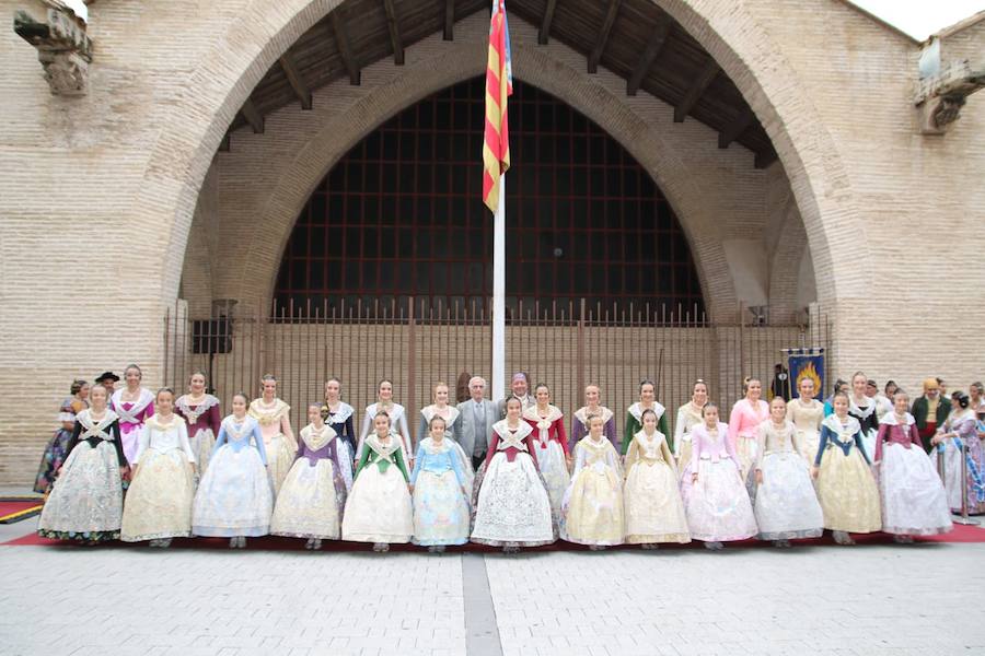
M174 390L160 389L154 403L154 414L140 430L120 539L169 547L172 538L192 534L195 454L187 423L174 413Z

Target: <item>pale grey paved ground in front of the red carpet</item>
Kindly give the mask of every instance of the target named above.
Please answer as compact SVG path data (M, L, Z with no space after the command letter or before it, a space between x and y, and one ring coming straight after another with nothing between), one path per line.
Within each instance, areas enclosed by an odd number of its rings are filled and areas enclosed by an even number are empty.
M0 654L983 654L983 557L0 547Z

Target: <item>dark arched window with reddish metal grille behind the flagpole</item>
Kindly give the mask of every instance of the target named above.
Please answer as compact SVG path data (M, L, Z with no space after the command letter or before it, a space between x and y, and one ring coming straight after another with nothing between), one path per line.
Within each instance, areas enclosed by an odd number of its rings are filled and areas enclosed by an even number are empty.
M298 216L276 302L485 307L493 219L479 198L484 80L409 107L347 153ZM704 311L676 216L604 130L517 81L510 97L507 307Z

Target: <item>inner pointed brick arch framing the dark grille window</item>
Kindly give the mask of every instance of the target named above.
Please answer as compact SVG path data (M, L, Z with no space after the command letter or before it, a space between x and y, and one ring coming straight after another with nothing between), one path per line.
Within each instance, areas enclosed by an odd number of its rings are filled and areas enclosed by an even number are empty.
M479 36L485 28L482 16L466 20L460 32ZM687 151L694 144L680 133L668 139L668 131L654 125L652 116L645 119L619 96L614 89L598 77L589 77L576 68L577 54L560 45L535 46L533 27L514 21L513 60L517 74L564 101L610 132L651 175L671 202L688 236L698 267L707 307L712 316L730 317L737 307L735 289L722 249L720 216L729 211L728 194L716 194L711 178L693 175L699 168L698 160ZM470 32L470 30L472 32ZM433 48L432 48L433 46ZM483 52L472 42L442 42L434 36L425 44L427 56L415 58L401 69L389 63L385 82L370 89L345 107L339 107L318 127L293 138L298 152L283 163L276 183L267 187L264 206L253 216L242 216L242 232L252 235L245 257L217 283L220 295L235 297L247 305L266 306L280 266L285 244L291 234L300 209L308 201L314 187L323 179L350 148L387 118L421 98L447 86L478 77L484 71ZM413 48L408 50L408 54ZM379 75L383 77L383 72ZM370 75L368 75L370 77ZM300 124L293 128L303 130ZM694 127L705 130L703 127ZM708 141L710 144L710 141ZM264 155L260 147L251 153L256 163ZM714 145L705 149L704 156L721 159ZM743 157L729 153L732 159ZM243 166L242 171L255 169ZM749 168L748 165L745 168ZM752 175L762 176L763 173ZM244 283L246 281L246 283ZM257 284L253 281L263 281Z

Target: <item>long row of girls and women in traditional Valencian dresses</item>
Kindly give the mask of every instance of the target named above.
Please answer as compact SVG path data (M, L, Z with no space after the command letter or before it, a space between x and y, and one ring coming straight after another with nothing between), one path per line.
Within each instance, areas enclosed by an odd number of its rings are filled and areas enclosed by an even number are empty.
M38 531L157 547L212 536L243 548L248 537L277 535L306 539L308 549L340 539L376 551L468 541L517 551L558 539L593 550L693 539L717 550L753 537L788 547L824 529L838 543L878 530L912 541L951 529L948 494L902 390L873 423L874 403L849 393L835 394L825 417L810 377L798 382L798 398L768 403L748 379L726 423L699 379L671 434L645 380L619 441L590 385L569 440L548 386L528 397L523 377L524 394L501 403L477 470L454 440L460 412L443 383L412 441L391 380L380 382L357 435L341 384L329 379L324 401L305 408L300 438L270 375L260 398L235 395L221 420L201 373L177 398L141 388L136 365L112 396L104 384L77 382L42 462L38 484L50 493ZM959 406L936 443L974 431L974 410L971 429L965 414Z

